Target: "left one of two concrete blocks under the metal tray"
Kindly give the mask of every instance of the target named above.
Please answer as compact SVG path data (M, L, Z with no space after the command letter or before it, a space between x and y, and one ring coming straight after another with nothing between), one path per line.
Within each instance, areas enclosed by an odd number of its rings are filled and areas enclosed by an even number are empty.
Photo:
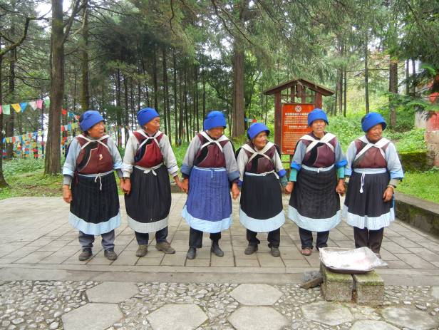
M323 274L321 290L327 301L351 301L353 290L353 279L351 274L340 274L331 272L324 264L320 264L320 271Z

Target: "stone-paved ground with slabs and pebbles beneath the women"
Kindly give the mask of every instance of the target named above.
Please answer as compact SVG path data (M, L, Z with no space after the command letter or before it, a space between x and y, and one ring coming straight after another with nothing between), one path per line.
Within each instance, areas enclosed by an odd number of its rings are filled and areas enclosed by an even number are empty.
M180 217L185 195L172 198L169 239L177 253L157 252L151 242L146 257L135 257L124 219L115 262L103 257L100 239L93 259L78 261L77 232L61 198L1 200L0 329L439 329L435 237L394 222L381 253L388 267L378 270L385 305L326 303L320 289L297 285L303 272L319 267L319 255L301 256L289 220L281 257L269 254L266 234L259 234L257 254L247 256L235 202L235 222L221 240L225 256L212 256L205 236L197 259L187 260L189 227ZM332 230L329 245L353 247L351 228L342 223Z

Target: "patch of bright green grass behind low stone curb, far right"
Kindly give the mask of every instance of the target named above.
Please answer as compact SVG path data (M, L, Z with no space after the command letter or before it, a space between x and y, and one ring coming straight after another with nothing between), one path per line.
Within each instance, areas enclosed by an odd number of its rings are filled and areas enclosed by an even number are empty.
M406 172L397 190L408 195L439 203L439 168L426 172Z

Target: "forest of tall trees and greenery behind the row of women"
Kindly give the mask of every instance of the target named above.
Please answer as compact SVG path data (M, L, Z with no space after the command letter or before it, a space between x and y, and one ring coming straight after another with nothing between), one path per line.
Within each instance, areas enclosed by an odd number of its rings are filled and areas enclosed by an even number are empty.
M210 110L237 145L246 118L273 128L262 91L293 78L334 90L323 108L345 150L373 110L398 152L425 153L414 114L439 110L439 2L0 0L0 68L1 105L46 100L0 113L0 199L61 195L63 146L79 133L61 132L67 112L99 110L123 153L137 111L156 108L181 163ZM44 158L6 143L38 130ZM439 202L432 182L437 169L414 168L398 190Z

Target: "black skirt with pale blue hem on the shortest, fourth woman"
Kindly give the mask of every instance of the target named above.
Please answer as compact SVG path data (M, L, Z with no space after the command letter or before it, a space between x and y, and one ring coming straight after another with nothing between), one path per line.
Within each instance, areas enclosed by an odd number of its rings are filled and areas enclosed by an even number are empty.
M244 174L239 222L253 232L271 232L285 222L279 179L268 175Z

